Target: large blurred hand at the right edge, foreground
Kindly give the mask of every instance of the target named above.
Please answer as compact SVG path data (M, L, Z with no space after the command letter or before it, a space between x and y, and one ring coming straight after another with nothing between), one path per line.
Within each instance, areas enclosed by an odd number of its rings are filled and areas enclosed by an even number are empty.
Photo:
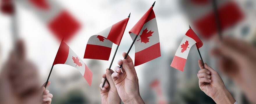
M256 48L231 37L216 42L219 47L211 53L218 57L221 71L240 86L250 102L256 103Z

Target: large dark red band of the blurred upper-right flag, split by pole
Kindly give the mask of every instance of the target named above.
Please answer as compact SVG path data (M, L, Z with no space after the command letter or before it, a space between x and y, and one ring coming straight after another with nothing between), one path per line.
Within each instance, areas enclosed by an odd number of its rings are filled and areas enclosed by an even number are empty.
M233 1L229 1L225 5L218 8L218 16L222 30L227 29L243 18L241 10ZM210 38L217 32L214 12L199 18L197 21L195 21L195 26L198 28L204 38Z

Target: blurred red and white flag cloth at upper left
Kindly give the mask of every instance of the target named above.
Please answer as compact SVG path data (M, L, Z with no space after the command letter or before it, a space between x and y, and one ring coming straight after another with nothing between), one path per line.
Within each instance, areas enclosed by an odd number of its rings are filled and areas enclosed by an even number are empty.
M54 0L17 0L18 4L32 10L47 28L59 39L65 41L79 30L80 23Z

